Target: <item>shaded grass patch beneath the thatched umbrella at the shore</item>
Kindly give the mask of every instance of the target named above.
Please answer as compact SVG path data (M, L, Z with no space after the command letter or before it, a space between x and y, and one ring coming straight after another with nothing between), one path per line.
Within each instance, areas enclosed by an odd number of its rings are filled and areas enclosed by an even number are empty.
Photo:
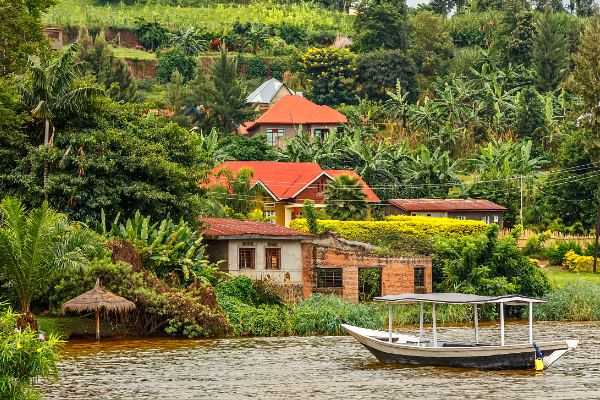
M44 317L36 316L39 329L46 334L54 333L67 340L71 335L87 337L96 334L96 320L91 317ZM112 329L108 321L100 320L100 336L108 337L125 334L124 328Z

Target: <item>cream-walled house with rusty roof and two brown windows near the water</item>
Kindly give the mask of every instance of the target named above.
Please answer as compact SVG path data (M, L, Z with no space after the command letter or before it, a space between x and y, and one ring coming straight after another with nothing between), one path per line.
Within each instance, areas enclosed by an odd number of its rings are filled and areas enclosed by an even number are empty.
M314 235L261 221L201 218L210 262L221 271L277 283L289 300L302 298L302 241Z

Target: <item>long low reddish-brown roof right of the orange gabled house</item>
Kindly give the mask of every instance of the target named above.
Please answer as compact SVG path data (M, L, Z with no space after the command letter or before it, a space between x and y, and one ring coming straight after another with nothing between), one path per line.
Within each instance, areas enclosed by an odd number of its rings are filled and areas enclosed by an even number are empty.
M508 211L481 199L390 199L388 203L404 211Z

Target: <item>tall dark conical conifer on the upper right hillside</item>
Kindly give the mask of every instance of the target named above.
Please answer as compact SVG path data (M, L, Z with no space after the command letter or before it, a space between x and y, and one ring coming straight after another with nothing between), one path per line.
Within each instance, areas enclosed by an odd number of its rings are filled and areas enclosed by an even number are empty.
M533 37L532 67L537 72L536 86L543 92L556 89L568 72L569 43L558 32L558 26L558 19L548 7Z

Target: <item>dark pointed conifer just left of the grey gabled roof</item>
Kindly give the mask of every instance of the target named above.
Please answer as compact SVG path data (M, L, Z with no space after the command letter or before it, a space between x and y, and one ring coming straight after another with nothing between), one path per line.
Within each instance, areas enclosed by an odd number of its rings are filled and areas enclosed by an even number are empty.
M221 46L221 56L213 63L210 78L209 84L192 85L194 96L204 105L204 112L196 116L195 122L204 132L215 127L221 133L233 133L236 124L250 121L256 113L242 108L246 98L237 81L236 61L229 57L225 46Z

